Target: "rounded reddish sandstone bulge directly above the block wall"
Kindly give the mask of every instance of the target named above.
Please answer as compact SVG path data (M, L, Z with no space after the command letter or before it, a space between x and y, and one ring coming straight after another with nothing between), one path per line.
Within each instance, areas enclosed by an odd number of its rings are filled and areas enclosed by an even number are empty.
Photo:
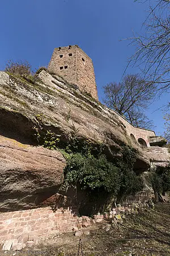
M63 181L66 161L58 151L33 147L0 135L1 212L31 209Z

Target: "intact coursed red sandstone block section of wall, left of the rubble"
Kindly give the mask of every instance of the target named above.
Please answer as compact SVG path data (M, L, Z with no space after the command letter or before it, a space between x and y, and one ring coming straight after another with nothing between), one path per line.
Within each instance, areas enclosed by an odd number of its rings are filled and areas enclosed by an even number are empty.
M60 208L56 212L50 208L38 208L0 213L0 242L17 239L24 243L28 238L36 237L40 240L50 234L69 232L77 223L75 210L69 208Z

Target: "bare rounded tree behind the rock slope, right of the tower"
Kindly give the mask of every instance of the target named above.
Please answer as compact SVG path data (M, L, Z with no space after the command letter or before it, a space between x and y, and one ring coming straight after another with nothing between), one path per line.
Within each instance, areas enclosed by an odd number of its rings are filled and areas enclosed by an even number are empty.
M104 103L131 124L152 129L154 125L143 111L154 97L154 91L154 84L147 83L138 74L126 75L121 82L111 82L104 86Z

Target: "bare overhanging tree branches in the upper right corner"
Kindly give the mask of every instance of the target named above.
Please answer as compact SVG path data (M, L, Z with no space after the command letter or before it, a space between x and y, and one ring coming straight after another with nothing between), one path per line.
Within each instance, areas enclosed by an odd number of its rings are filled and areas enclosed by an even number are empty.
M155 5L150 5L143 34L130 38L137 46L130 63L138 65L144 79L156 84L159 92L163 92L170 89L170 0L152 0L150 3Z

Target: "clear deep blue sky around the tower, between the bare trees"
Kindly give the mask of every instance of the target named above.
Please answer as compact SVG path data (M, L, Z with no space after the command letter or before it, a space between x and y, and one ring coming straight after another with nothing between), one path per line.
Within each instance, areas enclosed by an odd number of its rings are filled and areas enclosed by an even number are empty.
M154 0L153 0L154 1ZM133 0L6 0L0 9L0 69L7 60L28 60L33 69L48 65L53 49L78 44L93 60L99 100L103 86L120 81L135 52L135 46L123 40L140 34L147 4ZM129 68L128 73L138 72ZM161 96L147 110L154 120L156 134L163 133L162 111L168 102Z

